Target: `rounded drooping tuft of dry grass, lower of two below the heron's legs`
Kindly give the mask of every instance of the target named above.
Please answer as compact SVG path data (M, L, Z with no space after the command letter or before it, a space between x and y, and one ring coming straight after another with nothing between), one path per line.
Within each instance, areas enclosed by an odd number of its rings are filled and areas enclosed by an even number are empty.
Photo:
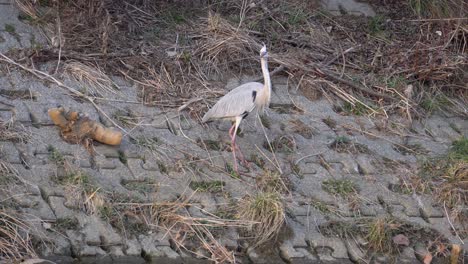
M277 192L259 192L246 196L239 202L238 217L255 222L251 226L253 247L274 241L285 222L285 208Z

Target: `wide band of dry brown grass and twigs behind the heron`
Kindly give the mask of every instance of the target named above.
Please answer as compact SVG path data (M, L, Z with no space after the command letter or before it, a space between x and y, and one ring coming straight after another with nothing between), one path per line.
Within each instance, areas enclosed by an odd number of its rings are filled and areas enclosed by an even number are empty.
M66 40L64 58L87 66L92 62L106 74L133 81L144 103L182 105L196 117L223 93L213 88L215 80L231 72L260 75L261 42L271 47L271 67L282 66L307 94L332 94L366 115L400 113L412 119L424 114L420 104L425 98L441 92L450 97L449 111L466 115L468 34L464 20L456 19L466 10L463 1L393 3L396 10L412 8L414 13L393 12L390 3L370 19L329 17L305 1L200 4L181 1L174 9L164 1L80 0L49 7L60 17L55 39ZM30 16L37 5L19 1ZM408 17L418 19L403 21ZM439 31L442 35L434 34ZM51 51L39 56L57 58ZM110 87L102 81L101 87Z

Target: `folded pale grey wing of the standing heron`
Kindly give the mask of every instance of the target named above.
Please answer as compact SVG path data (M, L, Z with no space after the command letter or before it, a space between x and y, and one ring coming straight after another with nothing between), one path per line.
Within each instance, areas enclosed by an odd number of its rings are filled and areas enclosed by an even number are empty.
M260 84L260 83L258 83ZM233 118L255 108L255 96L262 84L247 83L230 91L203 116L203 122L210 119Z

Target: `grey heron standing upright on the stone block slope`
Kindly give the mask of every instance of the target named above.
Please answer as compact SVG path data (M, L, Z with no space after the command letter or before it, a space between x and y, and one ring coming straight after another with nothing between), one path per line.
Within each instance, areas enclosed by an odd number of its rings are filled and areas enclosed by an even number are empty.
M271 98L271 80L268 71L268 52L265 44L260 50L260 64L262 67L264 83L249 82L238 86L223 97L203 116L202 123L213 120L230 120L233 125L229 129L231 137L232 153L234 157L234 170L237 172L236 159L236 134L241 121L247 115L256 109L263 112L265 107L270 104ZM245 162L242 152L239 149L241 161Z

